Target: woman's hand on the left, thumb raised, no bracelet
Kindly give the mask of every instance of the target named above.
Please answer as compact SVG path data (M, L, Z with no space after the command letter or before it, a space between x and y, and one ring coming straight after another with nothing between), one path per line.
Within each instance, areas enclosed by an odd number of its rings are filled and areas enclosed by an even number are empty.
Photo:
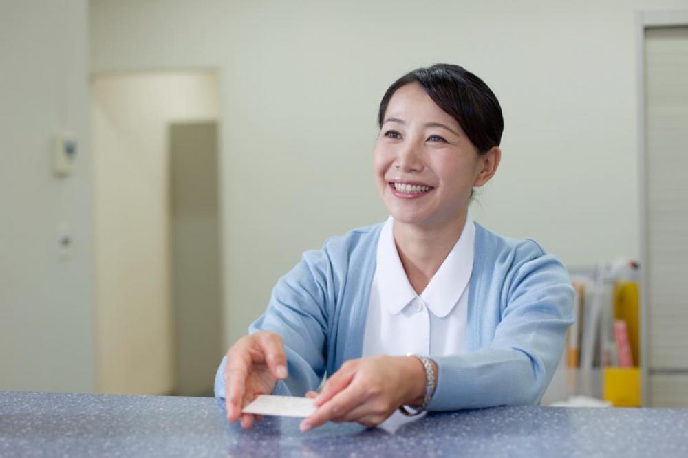
M241 409L258 395L270 394L277 380L287 377L282 338L274 332L259 331L237 340L227 351L224 375L227 419L250 428L255 416Z

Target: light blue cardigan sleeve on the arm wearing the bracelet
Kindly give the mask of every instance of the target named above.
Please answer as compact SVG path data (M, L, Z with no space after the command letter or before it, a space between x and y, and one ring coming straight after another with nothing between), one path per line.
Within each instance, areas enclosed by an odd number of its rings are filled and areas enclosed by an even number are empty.
M537 253L515 265L491 345L433 358L438 384L428 410L539 403L574 320L574 293L566 268L533 241L526 243Z

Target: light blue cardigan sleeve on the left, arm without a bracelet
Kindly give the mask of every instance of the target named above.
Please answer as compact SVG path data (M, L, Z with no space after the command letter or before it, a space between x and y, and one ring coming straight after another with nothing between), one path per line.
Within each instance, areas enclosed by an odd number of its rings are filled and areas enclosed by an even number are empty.
M304 395L317 389L325 373L327 303L332 301L332 267L323 250L310 250L277 282L266 312L249 333L271 331L284 342L288 378L273 394ZM215 375L215 397L224 398L226 357Z

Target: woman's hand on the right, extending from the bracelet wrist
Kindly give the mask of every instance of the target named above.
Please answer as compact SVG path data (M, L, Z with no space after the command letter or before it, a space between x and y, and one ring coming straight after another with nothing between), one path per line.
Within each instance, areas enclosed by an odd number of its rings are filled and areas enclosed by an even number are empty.
M415 356L369 356L350 360L327 379L315 397L317 410L301 422L301 432L332 422L375 427L402 404L422 404L425 369Z

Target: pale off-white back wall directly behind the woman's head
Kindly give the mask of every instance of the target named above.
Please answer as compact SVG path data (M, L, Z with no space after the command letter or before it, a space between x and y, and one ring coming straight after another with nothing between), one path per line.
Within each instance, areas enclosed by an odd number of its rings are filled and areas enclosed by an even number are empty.
M94 71L218 67L228 343L302 250L380 221L376 106L460 63L504 108L488 228L568 264L638 256L634 10L679 0L92 2Z

